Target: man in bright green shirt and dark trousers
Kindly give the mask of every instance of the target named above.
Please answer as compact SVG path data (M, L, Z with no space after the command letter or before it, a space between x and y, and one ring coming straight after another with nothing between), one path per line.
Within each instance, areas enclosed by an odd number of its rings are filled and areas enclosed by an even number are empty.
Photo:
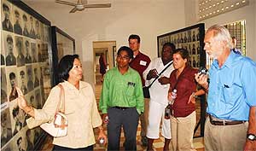
M137 125L144 111L143 85L139 73L129 67L133 52L121 47L117 67L106 73L100 110L102 119L108 117L108 150L119 150L121 128L125 132L125 150L137 150Z

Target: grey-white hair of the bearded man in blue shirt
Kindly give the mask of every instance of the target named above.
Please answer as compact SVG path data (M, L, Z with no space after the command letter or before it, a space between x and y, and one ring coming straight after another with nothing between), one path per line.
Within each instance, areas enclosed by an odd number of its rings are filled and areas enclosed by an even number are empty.
M230 32L224 26L214 25L207 29L207 32L213 32L213 38L216 41L224 41L227 43L227 46L231 49L233 48L232 38Z

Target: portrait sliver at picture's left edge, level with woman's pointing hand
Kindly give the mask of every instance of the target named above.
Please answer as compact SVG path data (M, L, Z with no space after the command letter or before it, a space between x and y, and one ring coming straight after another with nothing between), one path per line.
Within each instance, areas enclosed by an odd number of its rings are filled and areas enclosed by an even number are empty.
M5 68L1 67L1 104L8 102Z

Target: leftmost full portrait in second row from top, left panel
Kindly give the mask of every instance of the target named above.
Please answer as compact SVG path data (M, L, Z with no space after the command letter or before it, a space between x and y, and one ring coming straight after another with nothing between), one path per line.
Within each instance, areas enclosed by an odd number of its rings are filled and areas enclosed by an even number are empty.
M16 57L14 54L14 38L11 35L7 35L5 38L6 44L6 66L14 66L16 65Z

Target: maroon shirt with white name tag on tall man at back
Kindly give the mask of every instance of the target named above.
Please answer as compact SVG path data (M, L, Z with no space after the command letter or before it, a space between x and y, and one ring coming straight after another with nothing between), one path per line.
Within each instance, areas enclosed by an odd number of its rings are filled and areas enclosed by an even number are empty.
M145 80L143 78L143 72L146 70L150 63L150 58L148 55L144 55L143 53L139 52L136 57L130 62L130 67L136 70L142 79L143 86L145 85Z

